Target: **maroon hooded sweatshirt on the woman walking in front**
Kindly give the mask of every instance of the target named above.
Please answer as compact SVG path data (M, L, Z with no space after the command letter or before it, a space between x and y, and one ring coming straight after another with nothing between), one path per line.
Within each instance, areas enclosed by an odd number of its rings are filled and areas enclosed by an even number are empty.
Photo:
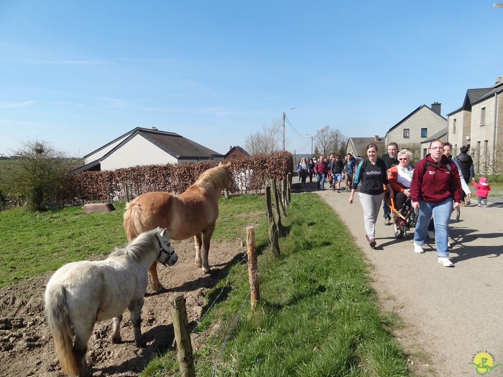
M427 166L427 161L430 166ZM447 164L450 163L450 168ZM429 154L415 165L410 182L412 202L441 203L447 198L461 203L461 181L456 164L442 155L436 162Z

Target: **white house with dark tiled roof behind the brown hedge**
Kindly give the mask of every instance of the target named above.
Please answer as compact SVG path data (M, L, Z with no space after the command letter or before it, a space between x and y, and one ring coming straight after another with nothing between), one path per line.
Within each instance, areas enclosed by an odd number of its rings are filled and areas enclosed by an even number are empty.
M84 156L85 165L71 173L223 159L222 154L174 132L137 127Z

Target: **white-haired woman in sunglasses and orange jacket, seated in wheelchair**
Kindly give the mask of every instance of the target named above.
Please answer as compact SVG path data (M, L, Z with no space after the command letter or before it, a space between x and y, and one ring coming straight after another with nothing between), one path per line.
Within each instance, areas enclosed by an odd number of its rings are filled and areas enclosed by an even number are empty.
M395 208L402 209L410 197L410 181L414 166L411 164L412 153L407 149L398 152L398 165L388 169L388 180L395 197Z

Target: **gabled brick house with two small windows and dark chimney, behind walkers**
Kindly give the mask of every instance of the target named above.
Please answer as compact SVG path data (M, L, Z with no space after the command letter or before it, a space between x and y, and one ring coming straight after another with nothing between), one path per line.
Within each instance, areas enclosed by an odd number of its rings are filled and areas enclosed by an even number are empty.
M444 130L447 119L440 115L441 106L435 102L431 108L421 105L415 109L386 132L385 145L395 142L401 148L404 144L422 144Z

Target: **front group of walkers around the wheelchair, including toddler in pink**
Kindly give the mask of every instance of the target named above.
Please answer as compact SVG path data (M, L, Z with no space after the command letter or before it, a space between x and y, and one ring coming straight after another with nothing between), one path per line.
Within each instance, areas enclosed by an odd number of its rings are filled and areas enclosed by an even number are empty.
M363 209L365 237L370 247L375 248L375 224L381 203L385 225L391 224L391 214L385 198L394 198L396 208L403 208L410 198L410 205L416 213L414 252L424 253L423 244L428 236L435 238L438 262L453 267L449 259L449 220L451 213L461 203L470 204L468 182L472 178L477 187L478 207L487 206L490 186L485 177L475 182L473 161L466 153L468 148L460 148L460 155L453 159L452 145L441 140L430 143L429 154L414 166L412 154L407 149L399 150L396 143L388 145L388 153L378 157L377 145L367 145L367 158L359 163L351 187L349 203L360 186L358 197ZM469 158L467 158L466 156ZM466 199L465 199L466 198Z

